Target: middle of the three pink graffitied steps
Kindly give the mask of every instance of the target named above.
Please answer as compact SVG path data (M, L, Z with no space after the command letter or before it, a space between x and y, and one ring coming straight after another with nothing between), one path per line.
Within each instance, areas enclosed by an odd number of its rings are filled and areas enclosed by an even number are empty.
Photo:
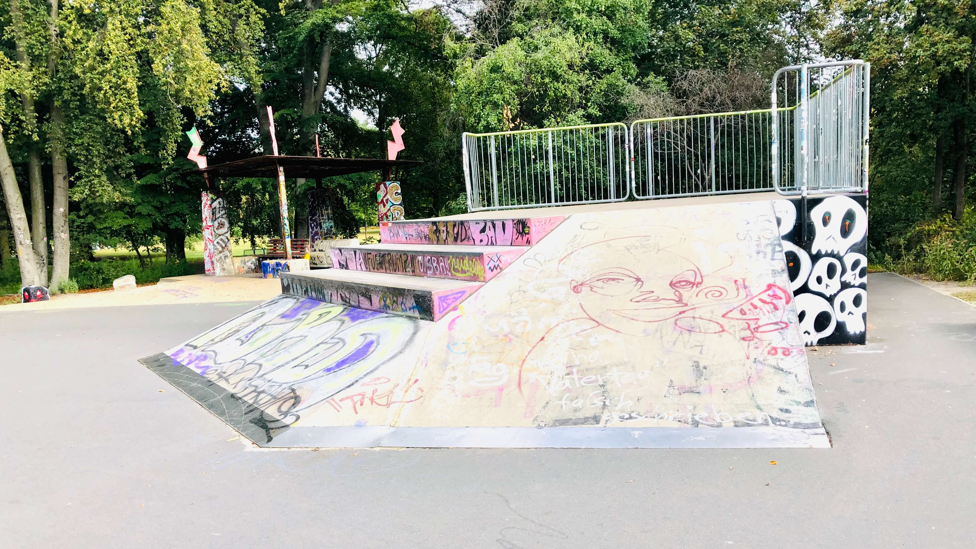
M367 244L336 247L334 268L488 282L528 248L524 246L454 246Z

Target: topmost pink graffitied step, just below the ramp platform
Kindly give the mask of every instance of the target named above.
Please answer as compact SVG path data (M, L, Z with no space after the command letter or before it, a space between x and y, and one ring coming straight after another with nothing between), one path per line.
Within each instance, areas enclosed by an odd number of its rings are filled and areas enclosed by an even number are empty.
M539 216L383 221L380 223L380 236L384 244L532 246L565 218Z

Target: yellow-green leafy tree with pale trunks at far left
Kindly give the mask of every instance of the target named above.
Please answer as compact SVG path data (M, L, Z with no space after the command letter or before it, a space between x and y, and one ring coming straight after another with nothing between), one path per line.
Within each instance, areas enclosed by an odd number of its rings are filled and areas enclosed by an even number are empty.
M57 287L68 276L68 179L74 183L70 198L81 205L82 217L102 209L102 229L143 234L144 219L124 218L127 212L145 210L134 205L133 189L140 180L136 167L144 166L146 157L156 170L169 166L183 126L208 115L220 90L232 82L257 82L250 53L260 35L262 12L250 0L62 5L50 0L46 6L9 0L8 8L0 59L7 100L0 125L14 129L15 157L25 151L28 158L35 235L44 233L45 218L36 160L41 150L50 154L51 283ZM46 260L37 237L31 240L23 230L26 211L18 177L6 141L0 145L0 175L19 239L21 279L43 284Z

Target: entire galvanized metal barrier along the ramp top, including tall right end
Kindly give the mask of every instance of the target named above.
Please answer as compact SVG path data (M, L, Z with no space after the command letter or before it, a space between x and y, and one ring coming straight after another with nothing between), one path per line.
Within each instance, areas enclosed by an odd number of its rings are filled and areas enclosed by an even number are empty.
M468 211L867 191L871 64L778 70L772 108L463 137ZM812 93L811 93L812 91Z

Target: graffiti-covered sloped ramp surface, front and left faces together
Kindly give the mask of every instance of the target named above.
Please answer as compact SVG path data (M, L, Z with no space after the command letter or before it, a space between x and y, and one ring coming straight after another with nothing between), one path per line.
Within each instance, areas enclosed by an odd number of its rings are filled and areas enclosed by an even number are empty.
M273 447L829 447L768 201L568 216L436 322L278 296L143 362Z

